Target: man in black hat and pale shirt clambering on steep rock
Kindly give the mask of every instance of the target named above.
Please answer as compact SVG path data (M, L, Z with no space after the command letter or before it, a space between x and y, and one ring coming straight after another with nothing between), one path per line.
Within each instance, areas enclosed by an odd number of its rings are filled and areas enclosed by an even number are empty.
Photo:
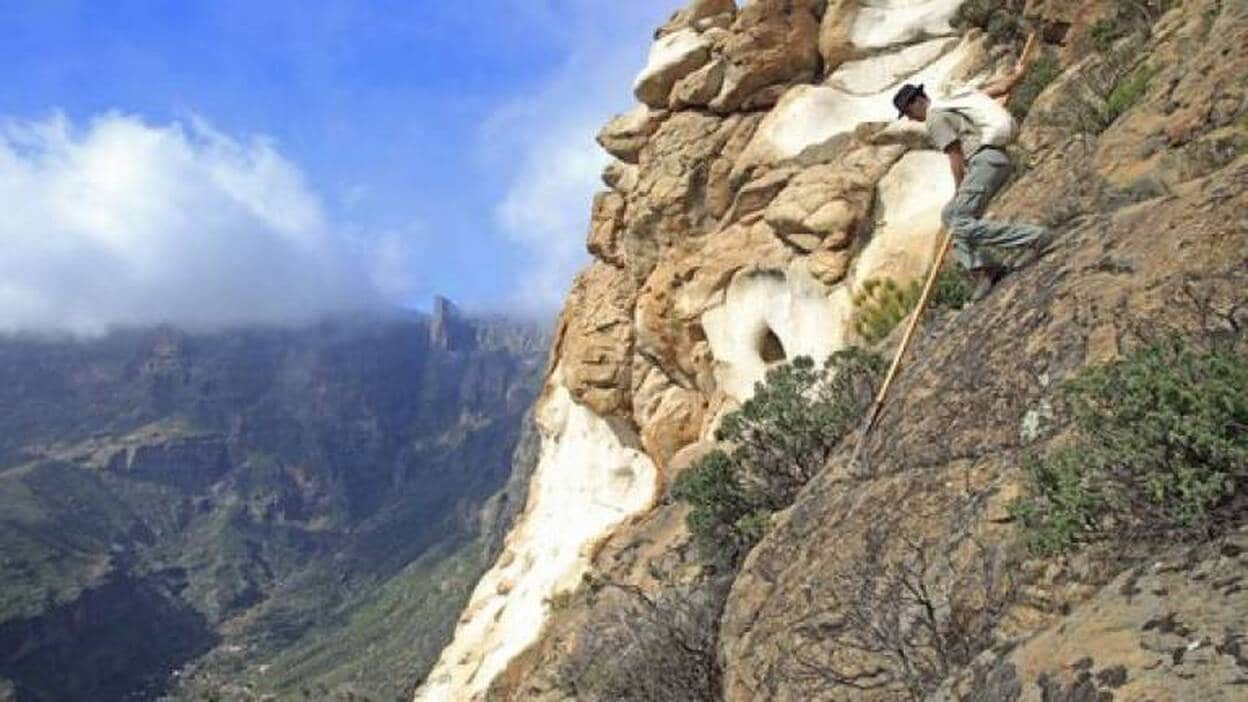
M1007 272L983 251L985 246L1023 249L1011 266L1017 270L1043 255L1052 241L1052 234L1042 226L981 219L1013 170L1005 146L1013 140L1017 125L997 100L1007 97L1027 72L1033 46L1035 37L1027 41L1013 70L982 90L934 104L922 85L907 84L892 99L901 116L925 122L929 139L948 155L957 194L941 211L941 220L953 235L958 262L975 279L972 301L982 300Z

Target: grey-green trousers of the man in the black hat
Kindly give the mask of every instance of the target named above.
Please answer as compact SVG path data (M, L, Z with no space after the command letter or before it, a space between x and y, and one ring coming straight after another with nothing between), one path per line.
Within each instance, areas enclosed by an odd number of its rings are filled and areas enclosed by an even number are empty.
M981 220L992 196L1010 179L1013 165L1000 149L981 149L966 162L966 175L957 195L941 211L941 221L953 234L953 252L967 270L983 269L993 264L981 249L1001 246L1017 249L1045 235L1045 227L1035 225L995 222Z

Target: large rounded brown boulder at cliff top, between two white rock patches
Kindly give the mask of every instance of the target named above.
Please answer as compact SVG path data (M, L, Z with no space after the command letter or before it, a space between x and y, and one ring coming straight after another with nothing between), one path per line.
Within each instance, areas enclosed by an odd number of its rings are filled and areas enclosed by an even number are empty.
M815 5L810 0L753 0L743 7L723 46L729 65L710 109L731 112L748 102L753 109L766 107L779 92L750 99L771 86L814 80L821 62Z

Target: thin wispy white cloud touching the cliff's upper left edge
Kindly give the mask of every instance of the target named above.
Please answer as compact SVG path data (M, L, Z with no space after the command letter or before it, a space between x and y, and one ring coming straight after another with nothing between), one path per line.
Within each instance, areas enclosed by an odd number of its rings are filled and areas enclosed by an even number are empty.
M522 307L555 309L588 261L590 201L609 160L594 136L629 107L653 30L675 5L548 0L525 10L535 25L552 27L565 60L539 90L505 104L483 127L485 149L508 175L495 206L499 227L534 261L522 271Z

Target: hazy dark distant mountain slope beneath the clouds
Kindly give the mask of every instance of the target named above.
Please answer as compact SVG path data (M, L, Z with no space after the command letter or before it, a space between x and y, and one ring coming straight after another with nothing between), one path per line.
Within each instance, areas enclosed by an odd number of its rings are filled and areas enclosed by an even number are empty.
M17 700L409 691L523 501L544 345L444 301L0 341L0 677Z

